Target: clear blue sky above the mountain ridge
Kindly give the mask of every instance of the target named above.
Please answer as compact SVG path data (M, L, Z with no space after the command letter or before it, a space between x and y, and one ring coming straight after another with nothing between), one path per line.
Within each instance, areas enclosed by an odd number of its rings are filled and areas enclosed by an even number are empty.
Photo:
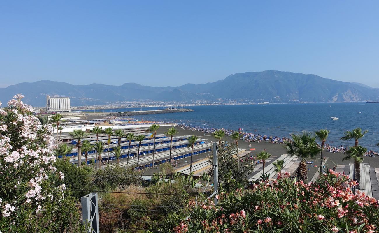
M2 1L0 87L268 69L379 87L379 1Z

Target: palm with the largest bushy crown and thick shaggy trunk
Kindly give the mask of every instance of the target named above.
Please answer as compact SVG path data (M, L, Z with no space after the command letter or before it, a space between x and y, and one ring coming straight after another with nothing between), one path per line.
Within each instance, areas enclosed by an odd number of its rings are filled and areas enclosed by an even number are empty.
M321 152L318 147L316 137L308 132L302 134L291 134L292 142L285 141L285 149L289 156L296 155L300 158L300 164L297 169L297 176L299 180L307 179L307 164L305 163L309 158L315 158Z

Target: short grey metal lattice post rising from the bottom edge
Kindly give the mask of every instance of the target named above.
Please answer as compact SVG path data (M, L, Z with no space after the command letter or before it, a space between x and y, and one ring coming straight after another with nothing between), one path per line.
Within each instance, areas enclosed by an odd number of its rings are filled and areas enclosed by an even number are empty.
M81 197L81 214L83 225L89 223L89 233L99 233L99 206L97 205L97 193L91 192Z

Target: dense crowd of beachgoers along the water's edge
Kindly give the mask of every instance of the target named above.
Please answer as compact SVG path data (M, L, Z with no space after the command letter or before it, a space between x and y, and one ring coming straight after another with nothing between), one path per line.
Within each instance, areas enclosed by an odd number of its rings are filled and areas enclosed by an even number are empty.
M183 130L191 130L191 131L199 131L202 133L214 133L215 131L220 130L219 128L209 128L209 127L200 127L200 126L191 126L191 125L186 125L186 124L178 124L178 127L182 128ZM221 128L225 132L225 135L232 135L234 130L227 130L225 128ZM274 143L274 144L282 144L284 141L291 141L291 138L287 137L276 137L276 136L267 136L267 135L260 135L257 133L248 133L244 131L239 131L241 135L241 139L244 142L266 142L266 143ZM321 146L321 144L319 144ZM249 147L252 147L251 144L249 144ZM334 147L329 144L325 144L324 148L328 152L332 153L345 153L349 148L344 145L340 145L338 147ZM366 156L375 156L379 155L378 152L374 152L373 150L368 151Z

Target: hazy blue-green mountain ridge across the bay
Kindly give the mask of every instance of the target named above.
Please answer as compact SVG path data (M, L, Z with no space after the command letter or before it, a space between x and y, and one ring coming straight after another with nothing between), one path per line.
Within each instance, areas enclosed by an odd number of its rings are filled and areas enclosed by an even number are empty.
M0 88L0 101L6 103L18 93L25 95L24 101L33 106L44 106L46 95L70 97L72 106L131 100L183 103L218 99L273 103L379 101L379 88L371 88L361 83L336 81L313 74L277 70L235 73L212 83L185 84L178 87L152 87L137 83L125 83L121 86L95 83L72 85L41 80Z

